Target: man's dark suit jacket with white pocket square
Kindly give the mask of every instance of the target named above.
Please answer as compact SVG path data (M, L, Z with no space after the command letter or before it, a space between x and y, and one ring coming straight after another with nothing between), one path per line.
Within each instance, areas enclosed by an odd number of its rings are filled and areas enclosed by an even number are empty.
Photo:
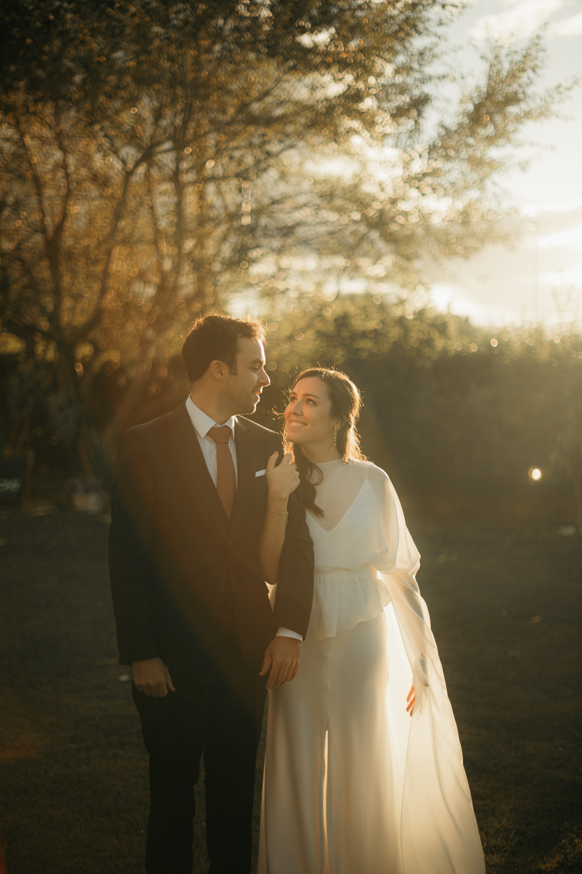
M113 489L109 566L120 663L159 656L170 673L197 669L230 623L259 670L278 626L305 637L313 545L293 494L272 611L258 563L267 466L281 440L238 417L237 488L229 520L185 404L127 432Z

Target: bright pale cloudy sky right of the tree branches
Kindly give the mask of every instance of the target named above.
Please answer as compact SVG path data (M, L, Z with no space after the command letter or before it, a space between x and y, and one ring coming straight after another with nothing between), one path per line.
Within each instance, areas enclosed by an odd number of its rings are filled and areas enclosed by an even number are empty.
M488 33L507 43L546 26L548 66L542 87L582 73L582 0L475 0L450 31L455 62L478 76ZM517 36L516 36L517 35ZM527 170L499 178L517 208L510 248L490 246L442 267L431 293L439 309L484 325L582 321L582 85L561 116L529 125Z

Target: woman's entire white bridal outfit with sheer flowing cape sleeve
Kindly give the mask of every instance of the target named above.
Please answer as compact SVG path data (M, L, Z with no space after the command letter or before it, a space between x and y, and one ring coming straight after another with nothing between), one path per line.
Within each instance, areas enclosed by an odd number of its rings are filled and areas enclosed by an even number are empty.
M298 677L269 693L259 874L483 874L398 496L367 461L319 468L312 618Z

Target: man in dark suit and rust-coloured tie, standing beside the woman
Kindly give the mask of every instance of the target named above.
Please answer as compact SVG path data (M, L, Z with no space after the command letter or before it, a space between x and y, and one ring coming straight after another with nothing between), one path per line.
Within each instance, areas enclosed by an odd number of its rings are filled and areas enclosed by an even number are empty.
M209 871L248 874L265 684L298 665L313 547L293 494L273 611L258 547L265 468L282 445L238 415L270 382L261 323L199 319L182 357L186 402L127 432L109 538L120 663L132 666L149 753L146 871L191 874L204 753Z

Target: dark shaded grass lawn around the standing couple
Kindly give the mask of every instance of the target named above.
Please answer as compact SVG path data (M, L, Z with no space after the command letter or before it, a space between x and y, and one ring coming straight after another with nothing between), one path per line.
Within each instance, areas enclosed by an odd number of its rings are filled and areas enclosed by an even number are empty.
M582 544L408 522L487 871L580 872ZM72 510L0 514L8 874L144 871L147 757L116 663L106 535L105 519ZM196 874L208 864L197 792ZM258 795L256 813L257 836Z

